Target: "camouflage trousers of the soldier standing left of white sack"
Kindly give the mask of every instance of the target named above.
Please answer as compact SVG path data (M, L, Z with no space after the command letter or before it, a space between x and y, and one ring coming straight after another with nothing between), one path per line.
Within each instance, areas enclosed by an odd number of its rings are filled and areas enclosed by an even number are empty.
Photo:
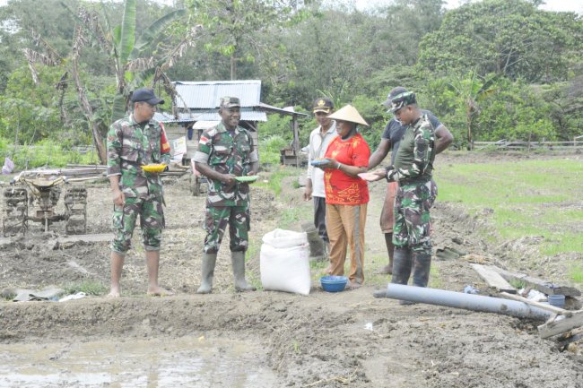
M219 252L225 229L229 226L231 252L247 251L250 214L248 205L207 207L204 215L204 253Z

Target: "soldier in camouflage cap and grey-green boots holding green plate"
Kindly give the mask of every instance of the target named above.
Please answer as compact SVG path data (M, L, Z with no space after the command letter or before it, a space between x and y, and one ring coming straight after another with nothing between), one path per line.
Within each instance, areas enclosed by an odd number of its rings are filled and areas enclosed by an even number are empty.
M257 175L259 159L248 130L239 126L240 100L223 97L221 122L201 134L195 168L209 179L206 197L202 280L199 294L213 289L213 274L222 236L229 228L231 264L237 291L252 291L245 279L245 253L250 225L249 185L235 178Z

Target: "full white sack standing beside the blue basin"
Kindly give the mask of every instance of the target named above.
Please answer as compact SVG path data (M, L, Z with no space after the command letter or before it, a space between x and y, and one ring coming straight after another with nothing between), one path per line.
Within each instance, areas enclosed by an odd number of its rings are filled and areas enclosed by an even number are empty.
M309 295L309 245L306 233L275 229L263 237L259 268L264 289Z

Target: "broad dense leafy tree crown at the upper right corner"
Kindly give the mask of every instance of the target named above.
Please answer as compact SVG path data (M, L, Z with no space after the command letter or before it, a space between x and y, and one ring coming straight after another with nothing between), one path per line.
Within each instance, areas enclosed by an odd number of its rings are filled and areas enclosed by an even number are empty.
M449 11L422 39L419 65L436 73L476 69L527 82L564 80L583 49L583 20L539 10L539 3L484 0Z

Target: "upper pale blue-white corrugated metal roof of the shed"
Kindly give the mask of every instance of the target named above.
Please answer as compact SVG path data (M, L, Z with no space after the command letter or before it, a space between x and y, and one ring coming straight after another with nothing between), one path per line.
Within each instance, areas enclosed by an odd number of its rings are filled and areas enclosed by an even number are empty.
M223 96L239 97L241 107L257 107L261 101L260 80L177 81L174 85L187 108L191 109L219 108L219 99ZM179 108L183 108L184 103L180 98L176 102Z

